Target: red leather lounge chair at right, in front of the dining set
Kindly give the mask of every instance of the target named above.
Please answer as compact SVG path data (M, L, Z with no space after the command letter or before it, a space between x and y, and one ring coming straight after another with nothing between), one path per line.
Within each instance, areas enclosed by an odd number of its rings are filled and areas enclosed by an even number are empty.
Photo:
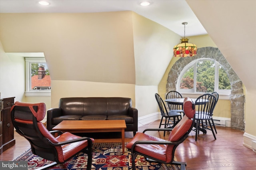
M184 117L172 129L151 128L145 129L143 132L137 132L132 141L126 148L132 154L132 169L136 170L135 159L137 155L142 155L145 158L150 158L156 162L164 164L178 164L181 169L186 169L186 162L174 161L174 152L177 146L182 143L187 137L194 125L195 105L194 102L185 98L183 103ZM170 132L169 140L164 140L145 134L146 131L168 130Z

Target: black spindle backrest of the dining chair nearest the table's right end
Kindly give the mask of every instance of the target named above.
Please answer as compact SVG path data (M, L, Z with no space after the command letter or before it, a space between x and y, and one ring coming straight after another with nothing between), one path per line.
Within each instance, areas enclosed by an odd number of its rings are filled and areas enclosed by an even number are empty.
M196 99L195 103L199 103L199 105L196 105L196 119L211 119L214 107L217 103L214 95L209 93L201 95Z

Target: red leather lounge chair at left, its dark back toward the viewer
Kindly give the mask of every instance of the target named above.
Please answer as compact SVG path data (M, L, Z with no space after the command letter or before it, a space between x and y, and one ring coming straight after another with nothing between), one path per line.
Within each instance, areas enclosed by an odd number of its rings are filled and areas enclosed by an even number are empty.
M59 130L48 131L42 122L46 113L44 103L22 103L16 101L11 108L12 123L21 136L24 136L31 145L33 154L52 164L39 169L46 169L56 164L62 164L80 152L88 154L87 170L92 165L92 142L94 139L80 137L70 132ZM54 137L53 134L57 134Z

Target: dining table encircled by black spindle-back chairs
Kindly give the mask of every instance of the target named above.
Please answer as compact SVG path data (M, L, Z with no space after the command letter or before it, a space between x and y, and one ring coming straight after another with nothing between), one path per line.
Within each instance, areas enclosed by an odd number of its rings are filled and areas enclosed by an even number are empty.
M184 99L185 98L165 99L164 101L171 105L182 105L182 107L183 107ZM196 101L196 98L190 98L190 99L195 103L195 105L203 105L204 103L208 102L207 99L199 99L198 101ZM196 124L194 124L194 127L196 127ZM200 130L204 134L206 134L206 130L204 128L198 127L198 130Z

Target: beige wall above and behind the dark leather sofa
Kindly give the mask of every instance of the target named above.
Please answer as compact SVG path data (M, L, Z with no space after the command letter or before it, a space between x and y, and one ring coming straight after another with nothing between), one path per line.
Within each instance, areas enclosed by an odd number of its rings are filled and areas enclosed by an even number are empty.
M135 105L132 12L1 14L0 20L6 52L44 52L52 106L60 97L117 94Z

